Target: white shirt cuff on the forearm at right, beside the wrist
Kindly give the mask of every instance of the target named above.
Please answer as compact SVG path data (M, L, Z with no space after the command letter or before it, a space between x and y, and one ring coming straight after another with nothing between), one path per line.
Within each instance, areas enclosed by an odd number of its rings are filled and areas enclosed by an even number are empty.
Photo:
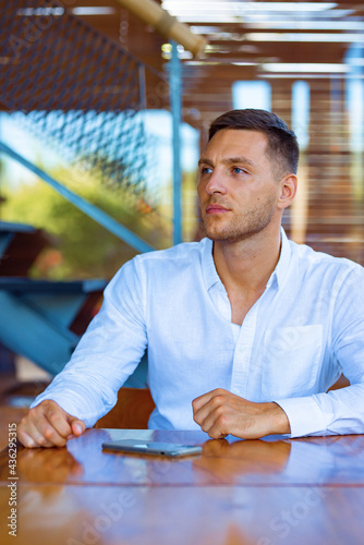
M274 399L272 401L287 414L291 426L290 437L319 435L320 432L325 435L326 419L313 398Z

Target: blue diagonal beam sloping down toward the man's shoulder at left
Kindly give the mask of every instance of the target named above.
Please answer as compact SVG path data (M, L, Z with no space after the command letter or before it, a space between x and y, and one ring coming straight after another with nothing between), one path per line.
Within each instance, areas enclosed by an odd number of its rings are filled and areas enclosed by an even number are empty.
M44 170L39 169L31 161L22 157L20 154L11 149L3 142L0 142L0 152L9 155L12 159L23 165L25 168L37 174L41 180L51 185L60 195L70 201L74 206L80 208L80 210L84 211L87 216L93 218L99 225L105 227L108 231L119 237L119 239L123 240L130 246L134 247L137 252L151 252L155 250L150 244L145 242L143 239L137 237L137 234L130 231L126 227L122 226L113 218L111 218L108 214L97 208L97 206L88 203L80 195L76 195L68 187L64 187L60 182L48 175Z

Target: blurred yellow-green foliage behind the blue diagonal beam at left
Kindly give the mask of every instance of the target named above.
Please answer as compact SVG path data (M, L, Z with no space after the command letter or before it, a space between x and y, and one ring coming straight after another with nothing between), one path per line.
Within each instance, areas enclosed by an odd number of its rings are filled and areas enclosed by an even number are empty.
M57 169L56 180L95 204L155 247L170 245L170 229L142 198L102 186L88 174ZM51 235L32 276L49 279L111 278L135 251L78 210L44 181L2 191L1 219L43 228ZM146 210L145 210L146 208Z

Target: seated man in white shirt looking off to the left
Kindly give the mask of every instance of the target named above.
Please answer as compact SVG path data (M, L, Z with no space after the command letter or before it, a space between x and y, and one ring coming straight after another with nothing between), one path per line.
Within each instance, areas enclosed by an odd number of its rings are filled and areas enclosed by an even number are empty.
M150 428L364 432L364 269L288 241L298 159L274 113L234 110L211 124L198 181L207 238L120 269L71 362L20 423L23 445L81 435L146 347ZM326 393L342 371L351 385Z

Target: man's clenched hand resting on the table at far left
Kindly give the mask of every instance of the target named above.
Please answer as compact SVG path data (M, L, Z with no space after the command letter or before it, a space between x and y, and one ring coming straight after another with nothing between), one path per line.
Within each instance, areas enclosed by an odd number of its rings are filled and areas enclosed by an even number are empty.
M24 447L64 447L68 439L78 437L86 428L82 420L71 416L52 401L46 399L17 424L17 438Z

